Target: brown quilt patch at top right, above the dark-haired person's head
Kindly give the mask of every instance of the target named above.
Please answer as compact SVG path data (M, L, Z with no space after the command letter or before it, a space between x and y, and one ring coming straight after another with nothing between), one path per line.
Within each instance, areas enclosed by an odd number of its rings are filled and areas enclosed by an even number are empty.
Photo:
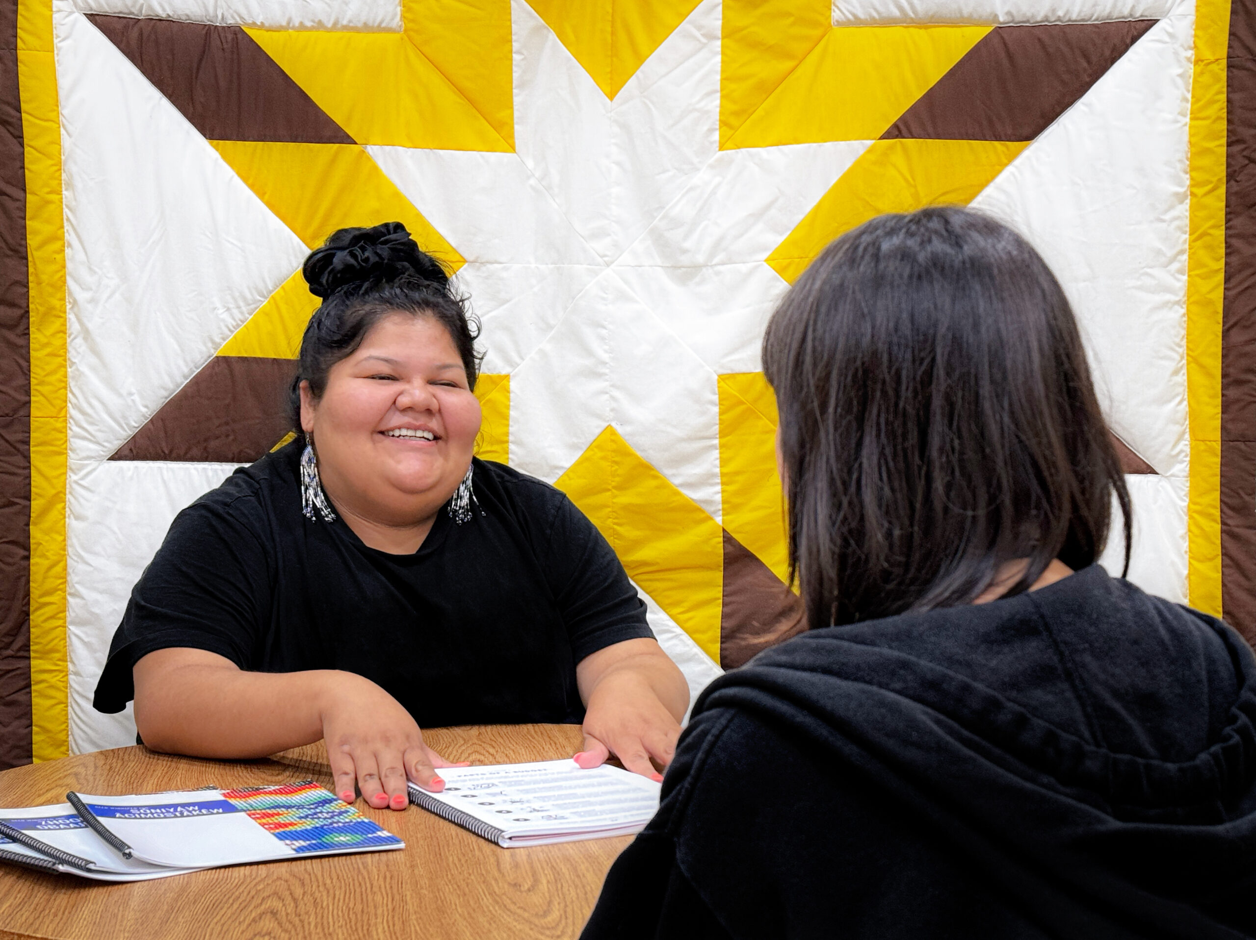
M1034 141L1154 25L997 26L883 137Z

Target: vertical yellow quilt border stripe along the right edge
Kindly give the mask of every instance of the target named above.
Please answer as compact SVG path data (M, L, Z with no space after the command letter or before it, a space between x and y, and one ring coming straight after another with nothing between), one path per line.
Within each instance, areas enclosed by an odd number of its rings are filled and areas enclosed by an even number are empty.
M1230 0L1198 0L1191 92L1186 380L1191 420L1193 607L1221 616L1221 315L1226 286L1226 67Z

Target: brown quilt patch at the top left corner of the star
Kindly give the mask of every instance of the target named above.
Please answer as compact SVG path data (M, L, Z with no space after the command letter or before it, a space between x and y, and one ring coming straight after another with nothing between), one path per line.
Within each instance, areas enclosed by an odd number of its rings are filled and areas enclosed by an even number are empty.
M240 26L88 19L206 139L353 143Z

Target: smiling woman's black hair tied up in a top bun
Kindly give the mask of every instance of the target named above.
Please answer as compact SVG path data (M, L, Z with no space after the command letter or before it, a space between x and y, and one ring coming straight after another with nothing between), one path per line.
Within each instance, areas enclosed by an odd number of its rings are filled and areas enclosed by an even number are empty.
M484 358L475 348L480 324L456 294L450 272L422 251L401 222L340 228L310 252L301 269L310 292L323 297L301 336L300 361L289 394L293 428L301 429L301 383L322 398L332 366L350 355L381 318L431 316L453 340L475 390Z

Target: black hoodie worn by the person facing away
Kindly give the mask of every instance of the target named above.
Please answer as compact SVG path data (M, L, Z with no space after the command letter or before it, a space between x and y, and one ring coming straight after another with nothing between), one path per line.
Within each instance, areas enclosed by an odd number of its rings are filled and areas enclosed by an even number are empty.
M707 689L598 937L1256 935L1256 663L1091 566Z

